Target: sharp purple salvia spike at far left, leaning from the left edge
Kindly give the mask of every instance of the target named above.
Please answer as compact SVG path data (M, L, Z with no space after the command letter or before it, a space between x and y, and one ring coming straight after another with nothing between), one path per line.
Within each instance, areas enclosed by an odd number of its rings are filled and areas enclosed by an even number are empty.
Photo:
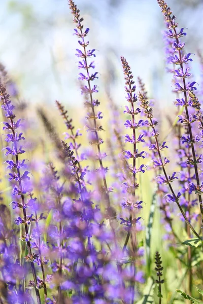
M4 130L8 131L9 133L6 135L6 141L10 143L10 146L8 145L6 148L4 148L6 155L14 156L15 161L12 163L12 168L15 169L15 173L9 173L10 177L9 180L15 180L17 181L16 185L13 187L12 195L14 197L20 198L21 202L18 203L16 206L18 208L22 208L23 216L18 216L15 219L15 223L17 225L23 224L25 228L25 235L23 236L24 241L27 244L27 250L28 255L26 256L26 260L30 262L31 270L32 270L32 276L35 283L35 290L36 290L36 296L38 303L41 303L40 298L40 292L38 289L38 282L37 282L37 275L36 275L36 269L34 264L35 257L32 254L31 246L30 246L30 235L28 231L28 225L31 223L31 221L35 221L35 218L33 217L33 214L27 215L26 207L27 204L25 202L25 195L27 193L26 189L26 180L29 180L29 172L25 171L24 173L21 173L21 168L23 167L24 160L20 162L19 156L23 153L25 153L25 150L23 150L22 145L19 144L19 141L21 142L24 140L23 134L20 132L19 134L16 132L16 130L20 127L20 119L17 121L14 121L15 114L13 112L14 105L12 104L10 100L10 96L6 91L6 88L3 84L0 84L0 99L2 102L2 109L5 111L5 117L9 122L4 122ZM9 161L7 161L7 164ZM9 166L8 166L9 167Z

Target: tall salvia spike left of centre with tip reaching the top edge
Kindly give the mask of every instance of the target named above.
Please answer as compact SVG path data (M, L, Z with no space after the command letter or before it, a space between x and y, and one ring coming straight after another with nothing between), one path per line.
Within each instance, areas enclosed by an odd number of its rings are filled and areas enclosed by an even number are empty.
M80 49L77 49L76 56L80 58L81 61L78 63L78 68L83 70L84 73L79 73L79 80L85 81L87 85L82 86L81 93L85 95L86 102L85 105L88 108L87 113L87 130L90 132L90 139L91 143L93 145L97 146L97 159L100 166L100 172L101 176L103 178L104 182L104 189L106 192L106 204L107 209L111 213L111 207L110 207L110 197L109 197L109 189L107 186L107 180L106 180L106 171L107 168L103 166L103 159L106 156L106 154L101 153L100 144L103 143L103 140L99 137L98 132L103 130L103 127L101 125L98 125L98 121L100 121L103 118L103 115L100 111L96 112L96 107L99 105L99 101L97 99L94 99L94 94L98 92L96 85L91 85L91 83L98 78L97 72L90 72L90 69L94 69L94 61L90 61L92 57L96 57L95 55L95 49L88 50L87 46L89 45L88 41L85 41L85 37L87 36L89 32L89 28L83 29L83 18L80 17L80 10L78 10L77 5L72 1L69 0L69 6L72 11L72 14L74 15L74 23L76 23L76 29L75 29L75 35L79 37L79 45L80 48L82 48L82 51Z

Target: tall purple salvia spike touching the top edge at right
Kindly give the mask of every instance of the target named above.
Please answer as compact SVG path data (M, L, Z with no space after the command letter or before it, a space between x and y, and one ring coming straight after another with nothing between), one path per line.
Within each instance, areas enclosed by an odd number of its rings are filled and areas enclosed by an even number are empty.
M187 81L187 78L191 76L189 72L188 64L192 61L191 53L185 54L184 47L185 43L182 43L180 38L186 35L183 31L183 28L178 29L178 23L176 22L176 17L173 15L173 12L170 7L163 0L157 0L158 5L161 8L165 22L167 24L167 35L172 39L172 48L174 49L174 55L168 58L168 62L175 64L178 69L175 70L175 76L179 80L175 83L175 90L182 94L181 99L176 100L176 105L182 106L185 108L185 116L181 116L179 123L186 124L188 129L188 135L183 135L181 140L182 143L189 145L192 152L192 159L188 159L188 162L192 162L194 166L196 184L191 183L190 192L197 194L199 201L199 208L201 214L201 232L203 236L203 204L201 197L201 185L199 179L199 170L198 170L198 157L196 156L195 146L199 142L201 137L203 122L202 122L202 113L200 111L200 103L197 97L194 94L194 91L197 89L197 83L195 81ZM192 115L189 114L190 108L195 109L195 113ZM200 134L194 134L193 124L197 122L199 124ZM202 245L203 249L203 245Z

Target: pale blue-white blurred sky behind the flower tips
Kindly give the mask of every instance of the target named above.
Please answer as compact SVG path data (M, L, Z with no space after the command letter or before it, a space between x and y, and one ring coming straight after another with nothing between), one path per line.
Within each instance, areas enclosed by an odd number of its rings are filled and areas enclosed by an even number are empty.
M156 0L77 0L90 28L90 47L96 49L97 82L100 94L108 84L118 105L124 102L124 82L119 57L129 61L134 77L140 76L159 106L173 105L172 75L165 72L163 16ZM203 1L168 0L187 27L190 53L203 49ZM32 104L80 107L83 99L77 82L77 37L66 0L2 0L0 2L0 62L21 96ZM193 73L199 81L198 56L193 56Z

